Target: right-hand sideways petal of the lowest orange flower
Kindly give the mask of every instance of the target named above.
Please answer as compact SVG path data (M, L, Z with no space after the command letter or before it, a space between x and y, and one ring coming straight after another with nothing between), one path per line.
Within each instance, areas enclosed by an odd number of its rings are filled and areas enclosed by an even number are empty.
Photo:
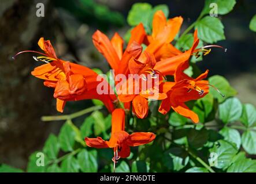
M155 139L154 133L151 132L135 132L129 135L126 143L129 146L138 146L150 143Z

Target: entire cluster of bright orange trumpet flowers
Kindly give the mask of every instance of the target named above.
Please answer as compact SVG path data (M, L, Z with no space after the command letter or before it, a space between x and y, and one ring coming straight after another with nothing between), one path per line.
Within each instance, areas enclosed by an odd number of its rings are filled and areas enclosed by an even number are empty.
M111 89L105 78L90 68L59 59L49 40L41 38L38 42L44 53L23 52L41 55L34 56L34 59L44 64L36 67L32 75L43 79L44 86L54 88L53 96L57 99L59 112L63 112L66 101L99 99L105 104L112 113L110 140L86 137L85 141L89 147L113 148L113 162L116 163L119 158L129 156L130 146L147 144L155 139L154 133L150 132L135 132L131 135L125 132L125 112L132 110L136 117L146 118L149 100L159 100L159 113L166 114L173 109L195 123L199 121L198 115L190 110L185 102L202 98L209 92L210 85L204 80L209 71L194 79L186 75L184 70L190 66L189 60L192 55L206 55L210 50L205 49L209 48L209 45L197 48L199 39L196 30L194 43L190 49L182 52L175 48L171 42L179 32L182 22L181 17L166 20L164 13L159 10L154 14L152 33L148 35L143 24L137 25L131 31L126 49L118 33L115 33L112 39L108 39L99 30L93 34L92 41L95 47L105 57L114 75L121 74L127 78L121 83L114 81L116 87L119 86L116 91ZM139 78L134 78L134 75L138 75ZM173 76L174 81L168 81L166 76L169 75ZM143 83L145 81L146 85ZM98 93L98 86L102 83L108 86L108 93ZM123 104L124 108L121 108L120 104Z

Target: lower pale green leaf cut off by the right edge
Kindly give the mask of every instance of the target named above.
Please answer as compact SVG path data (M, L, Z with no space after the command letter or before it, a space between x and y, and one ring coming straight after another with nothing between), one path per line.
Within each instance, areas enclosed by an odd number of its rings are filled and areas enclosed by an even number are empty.
M256 154L256 132L245 131L242 135L242 145L244 150L251 155Z

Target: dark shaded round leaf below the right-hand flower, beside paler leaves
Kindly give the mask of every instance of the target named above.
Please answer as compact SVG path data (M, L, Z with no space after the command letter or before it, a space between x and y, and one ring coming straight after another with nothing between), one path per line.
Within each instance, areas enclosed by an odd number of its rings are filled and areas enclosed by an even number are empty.
M202 128L199 131L194 128L191 128L190 131L188 132L187 138L188 144L191 147L201 148L205 143L207 143L209 133L205 128Z

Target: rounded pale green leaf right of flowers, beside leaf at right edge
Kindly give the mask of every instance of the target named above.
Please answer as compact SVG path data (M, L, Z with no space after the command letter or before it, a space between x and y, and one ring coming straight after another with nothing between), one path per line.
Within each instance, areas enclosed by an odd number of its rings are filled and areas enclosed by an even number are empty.
M219 118L227 124L239 120L242 115L242 104L238 98L229 98L218 106Z

